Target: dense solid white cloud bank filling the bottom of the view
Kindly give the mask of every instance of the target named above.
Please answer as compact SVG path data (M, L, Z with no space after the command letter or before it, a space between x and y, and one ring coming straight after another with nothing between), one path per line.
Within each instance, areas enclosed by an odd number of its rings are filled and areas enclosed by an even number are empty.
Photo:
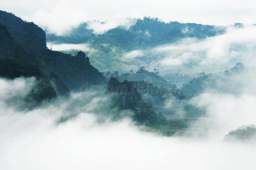
M129 120L99 124L97 117L88 113L56 124L63 109L1 112L0 168L254 168L253 145L166 138L141 132Z

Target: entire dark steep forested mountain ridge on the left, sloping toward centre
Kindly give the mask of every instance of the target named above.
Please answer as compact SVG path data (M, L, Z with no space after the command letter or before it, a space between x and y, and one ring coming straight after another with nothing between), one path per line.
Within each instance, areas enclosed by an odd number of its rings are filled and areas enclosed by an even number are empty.
M86 60L84 53L72 56L48 49L45 32L33 22L0 11L0 23L1 46L4 47L0 56L2 62L12 65L8 66L12 69L10 72L3 68L2 76L15 78L23 75L42 79L52 91L49 97L77 91L86 81L89 84L107 83L105 77Z

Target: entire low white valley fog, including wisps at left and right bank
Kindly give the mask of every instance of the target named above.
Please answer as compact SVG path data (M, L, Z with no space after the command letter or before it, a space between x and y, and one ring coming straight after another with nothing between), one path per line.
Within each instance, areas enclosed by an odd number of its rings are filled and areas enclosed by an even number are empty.
M256 123L256 96L194 98L206 107L197 125L208 129L207 137L164 137L141 131L128 118L99 121L116 111L107 108L105 96L73 94L28 111L20 101L35 83L0 79L0 169L255 169L255 144L222 139L231 129Z

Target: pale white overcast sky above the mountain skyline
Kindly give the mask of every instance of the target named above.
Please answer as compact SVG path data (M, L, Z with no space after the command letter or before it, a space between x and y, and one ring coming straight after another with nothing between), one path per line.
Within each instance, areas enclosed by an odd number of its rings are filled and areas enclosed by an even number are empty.
M143 16L158 17L166 22L180 21L210 25L235 22L256 23L254 0L1 0L3 11L34 21L53 32L67 30L87 20Z

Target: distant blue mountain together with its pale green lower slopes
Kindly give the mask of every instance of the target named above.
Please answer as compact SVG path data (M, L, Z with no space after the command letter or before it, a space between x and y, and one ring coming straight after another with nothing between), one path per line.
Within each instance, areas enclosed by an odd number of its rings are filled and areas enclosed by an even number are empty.
M97 21L95 21L97 22ZM159 18L144 17L137 19L129 29L124 26L107 30L97 34L88 29L90 22L84 22L73 28L68 34L57 36L46 34L47 42L55 44L81 44L89 46L93 66L100 71L127 72L138 69L140 66L152 65L159 56L153 53L145 53L147 49L171 44L185 38L204 39L223 34L225 27L214 25L202 25L195 23L169 22L165 23ZM100 24L100 23L99 23ZM84 44L83 44L84 43ZM51 48L51 45L49 45ZM77 53L81 49L67 49L64 53ZM136 53L145 50L136 57ZM134 53L133 53L134 52ZM129 55L130 57L126 57ZM151 63L152 62L152 63ZM188 74L188 72L186 73Z

